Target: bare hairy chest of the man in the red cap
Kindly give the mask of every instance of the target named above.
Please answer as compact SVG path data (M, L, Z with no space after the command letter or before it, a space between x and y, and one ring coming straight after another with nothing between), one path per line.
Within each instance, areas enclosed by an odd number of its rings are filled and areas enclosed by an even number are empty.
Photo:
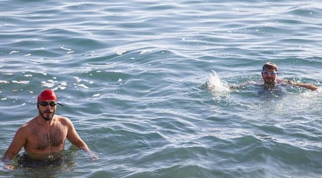
M29 146L37 150L45 150L50 146L57 147L65 142L66 134L67 130L61 125L34 128L29 136Z

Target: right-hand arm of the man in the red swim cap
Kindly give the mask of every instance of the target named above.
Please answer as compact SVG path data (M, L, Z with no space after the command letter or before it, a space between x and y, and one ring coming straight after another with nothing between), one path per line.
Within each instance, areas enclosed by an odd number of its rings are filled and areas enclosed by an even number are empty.
M67 118L66 118L66 121L67 121L67 126L68 126L66 138L69 140L69 142L71 144L77 146L80 149L85 150L89 154L91 160L95 161L98 157L88 148L86 143L77 134L73 123Z

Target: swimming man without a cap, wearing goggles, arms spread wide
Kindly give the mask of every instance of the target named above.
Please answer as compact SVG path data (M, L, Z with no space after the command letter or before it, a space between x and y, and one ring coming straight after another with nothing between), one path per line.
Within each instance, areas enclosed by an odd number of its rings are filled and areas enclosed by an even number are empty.
M272 63L272 62L268 62L266 64L264 64L263 69L262 69L262 77L264 79L264 86L265 87L274 87L276 84L284 84L284 85L293 85L293 86L298 86L298 87L303 87L306 89L311 89L311 90L316 90L318 89L315 85L313 84L304 84L304 83L297 83L297 82L293 82L290 80L286 80L286 79L277 79L277 66L276 64ZM248 82L247 84L254 84L254 82ZM229 86L230 89L237 89L240 87L245 87L246 86L241 85L241 86Z

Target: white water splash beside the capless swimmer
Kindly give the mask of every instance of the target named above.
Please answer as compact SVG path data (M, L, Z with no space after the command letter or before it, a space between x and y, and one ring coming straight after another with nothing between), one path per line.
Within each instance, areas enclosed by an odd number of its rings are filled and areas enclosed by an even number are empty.
M210 76L208 76L207 80L207 88L216 92L216 93L226 93L230 91L228 85L225 82L222 82L220 78L218 77L217 73L213 71Z

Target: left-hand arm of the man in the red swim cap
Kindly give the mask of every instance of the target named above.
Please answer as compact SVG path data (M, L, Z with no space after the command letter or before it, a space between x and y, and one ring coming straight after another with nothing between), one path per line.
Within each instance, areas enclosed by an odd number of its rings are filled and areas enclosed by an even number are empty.
M7 166L6 168L8 169L13 169L14 167L11 165L11 159L13 158L13 156L15 156L16 154L19 153L19 151L21 150L21 148L23 147L23 145L26 143L27 141L27 137L26 135L26 129L24 128L24 126L20 127L16 134L14 135L12 142L10 144L10 146L8 147L8 149L5 151L5 153L3 154L1 161L4 162Z

